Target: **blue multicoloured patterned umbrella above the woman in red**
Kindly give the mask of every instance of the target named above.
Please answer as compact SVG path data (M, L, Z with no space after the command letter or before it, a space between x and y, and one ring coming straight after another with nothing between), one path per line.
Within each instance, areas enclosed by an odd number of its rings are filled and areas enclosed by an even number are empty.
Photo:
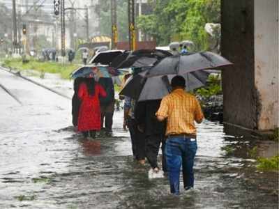
M73 79L77 77L112 77L120 75L121 73L119 70L113 69L108 65L85 65L81 68L78 68L74 72L70 73L70 77Z

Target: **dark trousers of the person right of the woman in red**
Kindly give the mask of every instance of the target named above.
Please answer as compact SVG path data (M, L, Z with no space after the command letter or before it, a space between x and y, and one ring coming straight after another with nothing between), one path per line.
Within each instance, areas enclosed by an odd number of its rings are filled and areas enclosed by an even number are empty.
M100 107L101 112L101 119L100 124L104 127L105 122L105 129L107 131L112 131L112 123L113 123L113 115L114 115L114 101L107 105L102 105Z

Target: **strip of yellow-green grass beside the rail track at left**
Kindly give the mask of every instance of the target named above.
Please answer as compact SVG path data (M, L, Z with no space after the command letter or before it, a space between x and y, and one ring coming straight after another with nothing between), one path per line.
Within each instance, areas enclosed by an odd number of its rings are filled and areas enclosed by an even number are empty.
M36 70L40 72L42 77L45 72L58 73L63 79L69 79L70 72L73 72L73 70L79 67L76 63L61 64L52 61L40 62L35 59L30 59L28 63L22 63L22 59L5 59L3 65L7 68L16 70Z

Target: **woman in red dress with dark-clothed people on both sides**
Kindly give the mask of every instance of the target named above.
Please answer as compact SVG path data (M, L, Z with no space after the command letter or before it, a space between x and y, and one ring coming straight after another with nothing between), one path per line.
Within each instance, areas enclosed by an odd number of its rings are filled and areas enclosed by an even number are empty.
M114 84L112 78L101 77L96 82L93 74L77 77L72 98L73 125L84 138L96 137L101 129L112 132L114 114Z

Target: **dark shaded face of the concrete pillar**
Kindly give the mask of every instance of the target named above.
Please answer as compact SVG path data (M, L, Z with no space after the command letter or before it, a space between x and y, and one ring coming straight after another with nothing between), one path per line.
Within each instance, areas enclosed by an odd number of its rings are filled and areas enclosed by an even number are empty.
M254 1L221 1L221 53L234 65L222 72L224 121L257 129Z

